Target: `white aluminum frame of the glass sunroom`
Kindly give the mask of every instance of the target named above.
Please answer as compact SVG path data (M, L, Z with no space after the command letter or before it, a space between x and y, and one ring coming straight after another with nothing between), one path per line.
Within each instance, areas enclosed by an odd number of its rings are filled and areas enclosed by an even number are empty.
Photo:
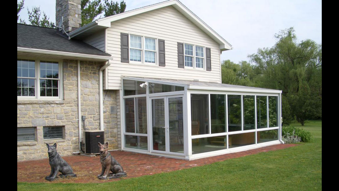
M278 92L273 90L271 92L268 92L269 90L263 90L262 92L258 92L258 90L250 91L251 89L244 89L243 91L229 91L229 90L206 90L206 89L188 89L189 85L187 84L180 84L180 82L167 82L167 81L161 81L157 79L143 79L143 78L137 78L137 77L122 77L121 82L123 79L126 80L137 80L137 81L145 81L147 84L146 88L146 95L132 95L132 96L123 96L123 85L122 85L122 90L121 92L121 149L124 151L131 151L131 152L137 152L137 153L143 153L143 154L151 154L151 155L156 155L156 156L165 156L165 157L171 157L171 158L179 158L179 159L186 159L186 160L194 160L194 159L199 159L199 158L204 158L204 157L209 157L209 156L216 156L216 155L221 155L221 154L226 154L226 153L232 153L232 152L239 152L239 151L244 151L244 150L249 150L249 149L254 149L254 148L260 148L264 146L269 146L269 145L276 145L276 144L281 144L281 93L276 93ZM153 82L153 83L159 83L159 84L166 84L166 85L176 85L176 86L181 86L184 87L184 91L175 91L175 92L164 92L164 93L153 93L149 94L148 92L148 82ZM209 117L209 133L208 134L202 134L202 135L193 135L191 134L191 94L208 94L208 117ZM226 132L223 133L213 133L211 134L211 109L210 109L210 94L220 94L220 95L225 95L225 112L226 112ZM233 132L228 132L228 95L241 95L241 117L242 117L242 130L241 131L233 131ZM255 129L252 130L243 130L243 95L252 95L254 96L255 99ZM146 96L146 101L147 101L147 134L136 134L136 133L124 133L124 98L131 98L131 97L144 97ZM267 118L268 118L268 96L276 96L277 97L277 112L278 112L278 117L277 119L279 122L278 127L268 127L268 120L267 120L267 128L257 128L257 112L256 112L256 105L257 105L257 96L266 96L266 103L267 103ZM182 97L183 98L183 132L184 132L184 154L181 153L172 153L172 152L159 152L159 151L154 151L153 150L153 136L152 136L152 121L151 121L151 115L152 115L152 106L151 106L151 99L156 99L156 98L164 98L164 100L167 99L168 97ZM165 101L165 102L167 102ZM165 107L167 108L168 106ZM168 108L167 108L168 109ZM168 111L167 111L168 112ZM273 140L273 141L268 141L268 142L263 142L263 143L258 143L257 142L257 133L260 131L267 131L267 130L278 130L278 140ZM228 135L234 135L234 134L242 134L242 133L250 133L250 132L255 132L255 144L252 145L247 145L247 146L240 146L240 147L235 147L235 148L229 148L228 147ZM148 150L139 150L139 149L132 149L132 148L125 148L124 147L124 135L135 135L135 136L147 136L147 141L148 141ZM214 136L226 136L226 149L223 150L218 150L218 151L211 151L211 152L204 152L204 153L198 153L198 154L192 154L192 139L195 138L205 138L205 137L214 137ZM167 142L166 142L167 144Z

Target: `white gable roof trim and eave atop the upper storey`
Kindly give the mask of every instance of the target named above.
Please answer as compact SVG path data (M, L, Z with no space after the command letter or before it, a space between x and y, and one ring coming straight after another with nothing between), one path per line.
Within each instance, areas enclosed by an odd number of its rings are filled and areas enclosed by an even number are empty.
M208 36L210 36L213 40L215 40L219 44L220 51L231 50L232 45L228 43L225 39L223 39L219 34L217 34L210 26L208 26L205 22L203 22L199 17L197 17L193 12L191 12L186 6L184 6L178 0L168 0L164 2L160 2L153 5L144 6L141 8L133 9L131 11L123 12L117 15L108 16L105 18L97 19L92 23L89 23L77 30L69 33L69 37L80 37L81 35L91 34L93 31L99 30L101 28L111 27L111 22L131 17L134 15L138 15L141 13L145 13L148 11L152 11L158 8L173 6L176 8L183 16L185 16L188 20L193 22L196 26L198 26L203 32L205 32Z

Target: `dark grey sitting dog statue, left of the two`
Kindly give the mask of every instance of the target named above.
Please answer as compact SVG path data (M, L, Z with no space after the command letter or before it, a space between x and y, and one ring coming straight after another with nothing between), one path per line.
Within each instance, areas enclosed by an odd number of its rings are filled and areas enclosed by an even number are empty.
M60 177L74 177L77 176L73 173L73 170L71 166L68 165L68 163L61 158L59 153L57 153L57 144L55 143L52 146L49 146L46 143L46 146L48 148L48 157L49 157L49 165L51 165L51 174L49 176L46 176L45 179L52 181L57 177L57 173L61 172Z

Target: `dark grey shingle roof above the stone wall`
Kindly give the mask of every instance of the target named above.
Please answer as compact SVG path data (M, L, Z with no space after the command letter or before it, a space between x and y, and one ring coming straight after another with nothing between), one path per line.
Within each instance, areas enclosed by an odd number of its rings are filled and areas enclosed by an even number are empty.
M54 28L45 28L17 23L18 47L111 56L96 47L77 39L68 40Z

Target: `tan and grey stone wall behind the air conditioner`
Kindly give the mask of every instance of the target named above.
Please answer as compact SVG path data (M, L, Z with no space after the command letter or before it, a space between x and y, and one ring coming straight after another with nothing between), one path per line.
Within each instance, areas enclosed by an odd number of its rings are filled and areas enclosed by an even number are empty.
M81 115L86 117L86 130L100 130L99 69L103 64L80 62ZM36 141L17 142L18 161L48 157L46 143L56 142L61 156L79 152L77 60L63 60L62 66L63 100L17 100L17 127L36 127ZM110 150L118 149L116 97L116 90L103 92L104 139ZM113 114L111 106L115 109ZM46 126L64 126L64 139L44 140L43 127ZM82 125L82 134L83 131Z

